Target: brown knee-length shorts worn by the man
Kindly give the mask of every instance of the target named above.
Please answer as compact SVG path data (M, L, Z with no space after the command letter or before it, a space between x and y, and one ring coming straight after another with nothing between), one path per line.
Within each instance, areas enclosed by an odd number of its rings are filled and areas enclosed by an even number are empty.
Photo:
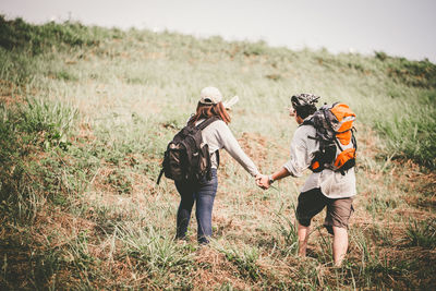
M354 211L353 197L332 199L323 195L319 189L303 192L299 196L296 219L304 227L311 226L312 218L327 206L324 227L334 234L332 227L348 229L348 221Z

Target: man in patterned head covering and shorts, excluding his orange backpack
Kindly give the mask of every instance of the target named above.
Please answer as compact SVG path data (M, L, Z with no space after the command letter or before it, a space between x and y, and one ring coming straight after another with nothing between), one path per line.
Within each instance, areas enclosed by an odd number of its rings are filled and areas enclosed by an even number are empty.
M315 102L319 97L312 94L300 94L291 97L294 117L300 126L291 142L290 159L275 173L261 175L256 179L258 186L268 189L276 180L288 175L301 177L307 169L319 149L315 136L316 130L311 124L303 124L316 111ZM334 235L332 255L336 266L340 266L348 248L348 221L352 214L355 191L354 168L346 172L335 172L324 169L313 172L301 189L296 207L299 255L305 256L312 218L327 206L324 226Z

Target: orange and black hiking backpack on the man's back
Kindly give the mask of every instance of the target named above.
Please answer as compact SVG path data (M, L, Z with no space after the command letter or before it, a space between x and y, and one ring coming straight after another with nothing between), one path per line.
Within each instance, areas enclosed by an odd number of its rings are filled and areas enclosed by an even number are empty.
M355 166L358 143L354 137L354 120L355 113L347 105L336 102L320 107L312 118L303 122L302 125L310 124L316 129L315 136L310 138L319 142L319 150L310 167L312 171L330 169L344 174Z

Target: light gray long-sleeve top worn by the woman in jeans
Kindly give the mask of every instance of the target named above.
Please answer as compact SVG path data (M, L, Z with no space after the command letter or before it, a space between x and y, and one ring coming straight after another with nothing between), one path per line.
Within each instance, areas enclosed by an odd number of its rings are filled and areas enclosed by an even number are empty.
M198 125L204 120L198 120L195 125ZM255 177L259 173L257 167L242 150L237 138L230 131L229 126L222 120L218 120L209 124L202 131L203 142L209 146L211 158L211 168L218 168L216 155L218 149L226 149L232 158L234 158L251 175Z

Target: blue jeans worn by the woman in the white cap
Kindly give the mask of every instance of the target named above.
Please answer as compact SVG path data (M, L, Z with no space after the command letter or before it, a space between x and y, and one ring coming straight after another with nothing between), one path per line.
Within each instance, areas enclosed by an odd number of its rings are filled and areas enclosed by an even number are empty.
M211 169L211 180L203 179L196 184L175 182L181 201L177 215L177 239L184 239L190 225L191 211L196 203L195 217L197 219L198 243L208 243L211 237L211 210L218 189L217 169Z

